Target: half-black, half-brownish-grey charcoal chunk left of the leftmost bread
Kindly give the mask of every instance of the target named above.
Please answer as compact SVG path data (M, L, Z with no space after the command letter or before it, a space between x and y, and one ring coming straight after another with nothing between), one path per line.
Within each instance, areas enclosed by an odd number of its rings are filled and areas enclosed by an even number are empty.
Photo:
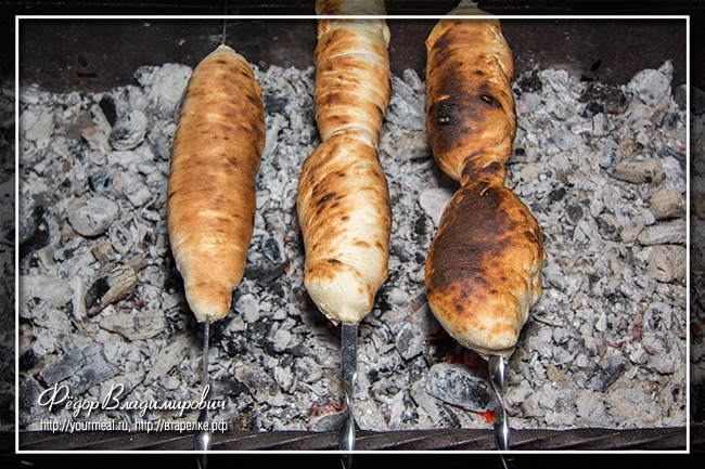
M98 272L86 290L86 312L95 315L108 304L131 297L137 283L137 274L132 266L106 264Z

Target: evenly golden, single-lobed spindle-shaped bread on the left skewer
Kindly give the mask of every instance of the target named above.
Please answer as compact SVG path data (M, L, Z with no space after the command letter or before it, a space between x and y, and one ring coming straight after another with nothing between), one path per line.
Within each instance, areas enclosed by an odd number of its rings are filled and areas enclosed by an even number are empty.
M189 80L167 190L171 251L198 322L225 317L242 279L264 145L259 84L247 61L220 45Z

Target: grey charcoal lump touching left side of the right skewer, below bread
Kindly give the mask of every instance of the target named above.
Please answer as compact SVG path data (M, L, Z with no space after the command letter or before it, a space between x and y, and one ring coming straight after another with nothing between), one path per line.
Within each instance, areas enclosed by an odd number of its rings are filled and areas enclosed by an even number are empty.
M473 412L493 411L497 403L487 381L461 364L433 365L426 376L426 389L444 402Z

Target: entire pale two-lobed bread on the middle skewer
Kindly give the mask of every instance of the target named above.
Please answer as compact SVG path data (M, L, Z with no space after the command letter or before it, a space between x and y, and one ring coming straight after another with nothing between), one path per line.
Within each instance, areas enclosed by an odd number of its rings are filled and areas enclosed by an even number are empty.
M316 11L384 14L384 4L328 0ZM388 40L384 19L319 19L315 101L323 142L304 164L297 210L304 283L335 324L369 314L387 277L392 213L377 145L390 94Z

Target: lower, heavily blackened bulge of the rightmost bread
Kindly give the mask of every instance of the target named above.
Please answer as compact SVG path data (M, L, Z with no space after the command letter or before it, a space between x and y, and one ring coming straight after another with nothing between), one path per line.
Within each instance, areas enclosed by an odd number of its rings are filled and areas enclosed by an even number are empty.
M426 263L426 295L451 336L483 353L513 349L541 295L541 232L509 188L462 186L444 211Z

